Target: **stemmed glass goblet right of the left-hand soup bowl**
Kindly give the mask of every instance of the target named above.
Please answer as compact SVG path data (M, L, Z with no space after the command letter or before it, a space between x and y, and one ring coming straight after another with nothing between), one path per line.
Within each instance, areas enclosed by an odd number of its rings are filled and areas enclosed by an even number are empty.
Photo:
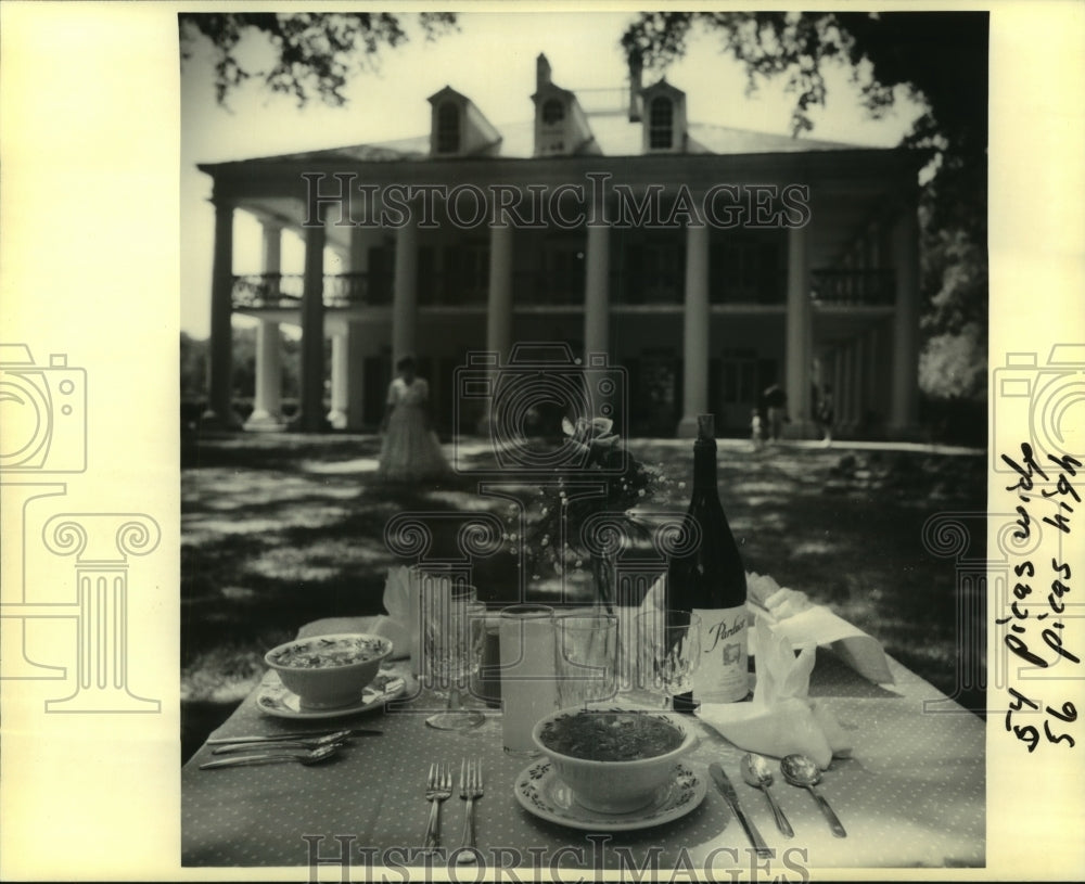
M422 648L429 664L423 669L430 687L438 695L448 695L445 710L431 715L425 723L438 730L476 728L485 716L477 709L464 709L461 697L482 659L486 606L473 586L429 574L422 578L421 602Z

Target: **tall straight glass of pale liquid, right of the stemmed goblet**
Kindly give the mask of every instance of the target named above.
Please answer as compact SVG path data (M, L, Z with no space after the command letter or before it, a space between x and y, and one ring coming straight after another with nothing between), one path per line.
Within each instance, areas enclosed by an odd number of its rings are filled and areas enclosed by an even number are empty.
M532 731L540 718L558 708L553 608L514 604L501 608L500 620L505 751L524 757L537 755Z

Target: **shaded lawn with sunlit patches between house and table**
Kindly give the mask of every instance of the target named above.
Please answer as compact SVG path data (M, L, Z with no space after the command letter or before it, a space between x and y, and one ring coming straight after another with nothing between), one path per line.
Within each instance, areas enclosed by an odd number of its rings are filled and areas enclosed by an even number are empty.
M939 514L975 526L962 555L984 556L982 452L720 440L719 488L748 571L771 574L876 636L943 691L960 681L962 630L982 610L957 598L957 558L926 531ZM390 565L388 520L495 509L462 475L442 487L390 487L365 435L187 437L181 470L181 720L188 757L264 671L263 653L319 617L376 614ZM481 449L481 446L478 446ZM685 440L630 451L690 479ZM485 453L475 456L475 463ZM688 486L687 486L688 487ZM686 490L667 505L685 509ZM961 514L970 514L971 521ZM439 539L439 538L438 538ZM492 603L515 601L512 556L475 572ZM958 610L970 611L960 623ZM973 679L974 681L974 679ZM982 713L982 699L968 705Z

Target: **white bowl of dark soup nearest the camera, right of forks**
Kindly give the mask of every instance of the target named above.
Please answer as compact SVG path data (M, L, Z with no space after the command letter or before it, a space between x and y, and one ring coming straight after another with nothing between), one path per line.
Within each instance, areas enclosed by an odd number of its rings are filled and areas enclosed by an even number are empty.
M578 758L558 752L542 739L553 722L576 715L615 716L614 727L638 727L654 718L674 728L680 742L660 755L628 760ZM602 719L600 719L602 720ZM576 802L602 813L629 813L647 807L674 777L675 764L697 744L697 734L681 716L651 709L559 709L541 719L532 731L535 745L550 759L554 772L569 785Z

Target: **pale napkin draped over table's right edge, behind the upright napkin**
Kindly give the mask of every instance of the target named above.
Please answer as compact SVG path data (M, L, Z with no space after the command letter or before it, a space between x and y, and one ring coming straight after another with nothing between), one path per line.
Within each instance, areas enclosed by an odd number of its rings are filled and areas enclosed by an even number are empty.
M805 592L781 587L768 575L746 574L750 607L758 620L786 636L796 648L822 645L876 684L894 681L885 651L872 636L838 617L825 605L814 604ZM756 654L751 644L750 652Z

